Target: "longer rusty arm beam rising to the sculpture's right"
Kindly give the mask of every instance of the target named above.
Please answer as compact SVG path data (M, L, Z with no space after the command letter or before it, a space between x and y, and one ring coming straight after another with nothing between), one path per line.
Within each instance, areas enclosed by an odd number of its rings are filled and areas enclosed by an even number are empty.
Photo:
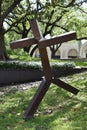
M50 38L50 39L40 39L38 44L40 48L43 48L43 47L48 47L48 46L59 44L59 43L64 43L64 42L74 40L74 39L76 39L76 32L71 31L71 32Z

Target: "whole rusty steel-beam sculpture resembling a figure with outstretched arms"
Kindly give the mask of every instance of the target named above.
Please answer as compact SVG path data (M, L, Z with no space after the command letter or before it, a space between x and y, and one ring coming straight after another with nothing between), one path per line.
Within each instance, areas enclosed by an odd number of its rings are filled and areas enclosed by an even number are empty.
M49 64L49 59L48 59L47 50L46 50L46 47L49 47L51 45L64 43L64 42L76 39L76 32L71 31L71 32L50 38L50 39L45 39L42 36L37 20L35 19L31 20L30 26L31 26L31 30L34 37L13 41L10 44L12 49L24 48L29 45L37 44L39 52L40 52L42 66L43 66L44 78L38 90L36 91L33 99L31 100L28 109L26 110L24 114L24 117L23 117L24 119L30 119L34 116L35 111L37 110L40 102L42 101L51 83L56 84L57 86L73 94L77 94L79 92L78 89L65 83L59 78L52 77L51 67Z

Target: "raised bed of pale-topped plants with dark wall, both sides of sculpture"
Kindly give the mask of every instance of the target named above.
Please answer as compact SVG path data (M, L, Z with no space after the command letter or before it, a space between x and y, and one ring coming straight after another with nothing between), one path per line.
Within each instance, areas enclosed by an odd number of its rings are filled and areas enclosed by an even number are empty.
M85 71L76 68L74 63L51 63L52 75L55 77L67 76ZM86 69L87 70L87 69ZM44 76L40 62L9 61L0 62L0 86L12 83L22 83L42 80Z

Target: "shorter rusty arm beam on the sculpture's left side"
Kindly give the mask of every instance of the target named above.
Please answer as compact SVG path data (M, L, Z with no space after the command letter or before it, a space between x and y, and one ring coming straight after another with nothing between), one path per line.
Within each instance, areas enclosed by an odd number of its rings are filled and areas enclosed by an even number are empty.
M36 43L37 43L37 40L35 38L23 38L23 39L11 42L10 47L12 49L24 48L29 45L34 45Z

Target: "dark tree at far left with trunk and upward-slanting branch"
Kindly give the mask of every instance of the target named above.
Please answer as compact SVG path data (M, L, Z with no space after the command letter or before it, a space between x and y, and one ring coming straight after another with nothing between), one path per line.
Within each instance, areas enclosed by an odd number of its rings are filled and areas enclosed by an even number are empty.
M7 16L14 10L14 8L20 3L20 1L21 0L17 0L17 1L14 0L12 3L12 1L6 2L6 0L0 0L0 59L1 60L6 60L9 58L6 52L5 41L4 41L4 35L7 32L4 28L4 21L7 18Z

